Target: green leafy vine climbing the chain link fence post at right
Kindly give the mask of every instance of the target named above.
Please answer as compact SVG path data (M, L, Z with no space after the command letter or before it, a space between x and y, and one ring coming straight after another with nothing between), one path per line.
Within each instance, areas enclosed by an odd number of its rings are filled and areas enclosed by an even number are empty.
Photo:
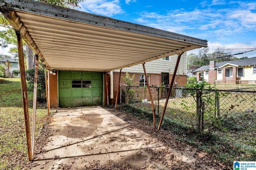
M220 93L215 91L215 94L212 95L212 90L217 90L217 88L215 85L211 86L211 84L206 81L188 83L186 86L191 89L189 90L189 93L196 103L196 113L194 113L196 115L196 131L199 135L209 136L212 129L217 127L221 121L220 95L227 96L229 92ZM187 104L186 101L182 100L181 105L183 106L183 109L188 112L190 108Z

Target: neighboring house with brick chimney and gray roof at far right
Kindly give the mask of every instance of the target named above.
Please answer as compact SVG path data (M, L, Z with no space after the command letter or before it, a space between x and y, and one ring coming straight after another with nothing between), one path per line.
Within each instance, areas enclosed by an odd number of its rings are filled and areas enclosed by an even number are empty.
M203 74L204 80L209 83L226 84L256 84L256 58L240 59L201 66L196 69L196 80L200 81Z

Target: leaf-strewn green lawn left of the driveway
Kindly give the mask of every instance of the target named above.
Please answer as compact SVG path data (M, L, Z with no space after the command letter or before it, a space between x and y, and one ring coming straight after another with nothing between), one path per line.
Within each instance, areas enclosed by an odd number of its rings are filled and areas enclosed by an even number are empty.
M33 92L28 91L30 131ZM24 112L19 78L0 78L0 169L20 169L28 160ZM48 116L46 104L36 110L36 135Z

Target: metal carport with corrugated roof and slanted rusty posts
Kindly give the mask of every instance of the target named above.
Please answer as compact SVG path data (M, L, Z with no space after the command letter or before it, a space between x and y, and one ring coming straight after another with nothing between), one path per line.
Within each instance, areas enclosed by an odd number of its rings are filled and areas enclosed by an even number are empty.
M32 160L34 154L33 127L36 118L37 76L35 76L32 139L30 139L22 39L42 61L45 73L46 70L48 72L74 70L106 74L112 70L120 70L121 74L122 68L137 64L142 64L144 67L148 61L177 54L179 57L174 70L175 75L182 53L207 47L206 40L33 0L0 0L0 12L10 22L17 35L29 160ZM37 75L37 66L35 70ZM145 67L144 73L146 75ZM170 84L173 82L174 76ZM108 86L106 82L104 86ZM170 90L158 129L169 96ZM49 114L49 100L47 103ZM154 118L153 102L152 108Z

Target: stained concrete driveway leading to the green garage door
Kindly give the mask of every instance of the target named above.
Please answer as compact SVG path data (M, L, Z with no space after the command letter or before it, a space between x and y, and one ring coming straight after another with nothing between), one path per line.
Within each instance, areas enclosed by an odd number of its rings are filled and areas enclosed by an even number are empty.
M194 166L196 161L196 152L191 148L169 148L140 130L138 122L110 108L68 109L52 117L50 141L44 147L45 152L34 158L36 170L164 170L175 163Z

